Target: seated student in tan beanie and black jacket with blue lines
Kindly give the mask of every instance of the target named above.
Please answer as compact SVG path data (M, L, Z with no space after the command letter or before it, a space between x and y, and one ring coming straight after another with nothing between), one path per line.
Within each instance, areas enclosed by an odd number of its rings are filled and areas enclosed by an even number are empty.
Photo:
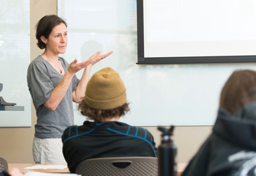
M118 122L130 109L124 83L112 68L92 76L78 109L90 121L68 127L63 133L63 155L71 173L90 158L157 157L154 138L147 129Z

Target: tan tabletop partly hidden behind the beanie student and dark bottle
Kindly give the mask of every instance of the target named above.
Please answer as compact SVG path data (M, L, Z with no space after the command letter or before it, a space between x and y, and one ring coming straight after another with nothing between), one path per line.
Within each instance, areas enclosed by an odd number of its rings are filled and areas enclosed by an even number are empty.
M9 168L19 168L20 172L26 173L28 171L34 171L34 172L48 172L48 173L70 173L68 168L65 169L25 169L26 167L36 166L36 165L60 165L60 164L8 164ZM66 165L67 164L61 164ZM186 168L187 163L178 163L177 164L177 172L178 176L182 174L184 169Z

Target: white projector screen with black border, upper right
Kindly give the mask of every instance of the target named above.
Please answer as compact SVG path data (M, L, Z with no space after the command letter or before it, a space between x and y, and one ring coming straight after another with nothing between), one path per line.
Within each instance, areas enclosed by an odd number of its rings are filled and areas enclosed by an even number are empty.
M256 61L253 0L137 0L138 63Z

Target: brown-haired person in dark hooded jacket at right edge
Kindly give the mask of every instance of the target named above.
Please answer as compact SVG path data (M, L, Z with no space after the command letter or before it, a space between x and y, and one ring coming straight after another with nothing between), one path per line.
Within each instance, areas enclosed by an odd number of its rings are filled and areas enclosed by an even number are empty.
M256 72L236 70L220 95L212 133L182 176L256 175Z

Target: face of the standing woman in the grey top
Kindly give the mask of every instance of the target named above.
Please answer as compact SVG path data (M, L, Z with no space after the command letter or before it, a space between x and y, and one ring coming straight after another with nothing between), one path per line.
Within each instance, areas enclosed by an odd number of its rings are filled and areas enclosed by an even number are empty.
M52 54L63 54L66 52L68 42L67 26L61 23L55 26L46 39L46 50Z

